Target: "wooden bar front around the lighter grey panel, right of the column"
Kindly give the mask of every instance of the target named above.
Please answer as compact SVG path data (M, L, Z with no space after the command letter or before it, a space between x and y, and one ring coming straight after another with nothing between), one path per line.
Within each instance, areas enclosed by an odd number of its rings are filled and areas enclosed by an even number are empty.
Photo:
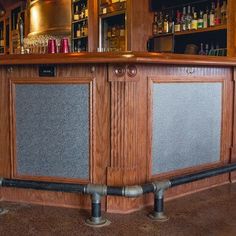
M204 169L211 169L217 166L222 166L230 162L230 149L232 138L232 104L233 104L233 80L230 69L227 68L210 68L210 67L150 67L148 66L149 78L149 129L148 129L148 153L149 153L149 178L152 180L168 179L173 176L181 176L183 174L194 173ZM191 72L191 73L189 73ZM192 82L221 82L223 84L223 101L222 101L222 133L221 133L221 161L218 163L206 164L196 167L190 167L182 170L168 172L166 174L151 175L151 144L152 144L152 84L161 83L192 83ZM201 189L209 188L215 185L221 185L229 182L229 174L208 178L202 181L197 181L187 185L182 185L167 191L168 198L175 198L189 194ZM150 197L149 197L150 201Z

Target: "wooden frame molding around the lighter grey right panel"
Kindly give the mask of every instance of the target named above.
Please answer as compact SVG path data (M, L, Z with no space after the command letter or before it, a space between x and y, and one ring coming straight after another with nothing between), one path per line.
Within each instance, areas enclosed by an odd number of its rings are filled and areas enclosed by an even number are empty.
M176 170L168 173L152 175L152 88L154 83L222 83L222 121L221 121L221 151L220 162L207 163L199 166L192 166L181 170ZM177 175L196 172L199 170L214 168L222 166L230 162L230 147L231 147L231 132L232 132L232 81L224 76L207 77L207 76L194 76L190 73L188 76L150 76L148 77L148 163L149 179L156 180L160 178L169 178Z

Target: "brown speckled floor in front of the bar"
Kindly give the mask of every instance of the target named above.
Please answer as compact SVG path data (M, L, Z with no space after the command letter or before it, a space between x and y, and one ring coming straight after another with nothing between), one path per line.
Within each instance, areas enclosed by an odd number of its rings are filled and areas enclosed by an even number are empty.
M167 222L147 218L151 208L129 214L104 214L112 223L104 228L84 224L88 211L0 202L1 236L132 235L235 236L236 184L224 185L167 202Z

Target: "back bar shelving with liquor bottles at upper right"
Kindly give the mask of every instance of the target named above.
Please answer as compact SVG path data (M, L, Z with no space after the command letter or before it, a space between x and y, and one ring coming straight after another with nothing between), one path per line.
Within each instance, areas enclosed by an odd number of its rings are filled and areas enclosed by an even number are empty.
M212 4L215 4L214 6L217 6L217 8L214 8ZM227 50L227 54L226 50L224 50L224 53L222 54L228 56L234 55L235 44L233 42L235 41L235 31L233 30L233 25L235 25L235 1L151 0L151 9L153 11L159 12L159 15L162 14L163 21L165 21L164 18L168 15L171 15L171 19L173 19L173 27L171 26L173 29L171 30L171 32L169 32L173 35L171 39L169 38L169 40L172 41L173 47L168 47L169 52L172 51L175 53L191 54L209 53L210 55L212 55L212 52L214 53L213 49L216 48ZM183 13L184 11L185 14ZM190 11L191 14L190 18L193 19L192 21L190 20L192 23L190 23L189 26L186 25L187 23L183 23L185 21L188 21L188 11ZM214 14L211 20L212 11L214 12ZM202 14L202 17L200 17L200 14ZM160 20L158 20L158 22L159 21ZM158 31L160 30L157 27L157 33L156 31L154 31L154 33L156 34L153 36L153 38L151 38L151 47L149 48L149 51L166 51L166 47L164 46L165 41L161 41L160 39L161 37L165 37L166 29L163 29L163 32L160 31L160 33L158 33ZM155 44L159 42L160 44L163 44L163 46L155 47ZM194 47L194 52L188 52L188 46L190 45L192 46L192 48Z

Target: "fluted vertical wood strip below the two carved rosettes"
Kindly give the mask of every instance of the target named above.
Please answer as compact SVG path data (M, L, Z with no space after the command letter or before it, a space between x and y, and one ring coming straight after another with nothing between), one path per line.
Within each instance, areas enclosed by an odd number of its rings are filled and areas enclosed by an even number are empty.
M111 85L111 167L137 166L137 83Z

